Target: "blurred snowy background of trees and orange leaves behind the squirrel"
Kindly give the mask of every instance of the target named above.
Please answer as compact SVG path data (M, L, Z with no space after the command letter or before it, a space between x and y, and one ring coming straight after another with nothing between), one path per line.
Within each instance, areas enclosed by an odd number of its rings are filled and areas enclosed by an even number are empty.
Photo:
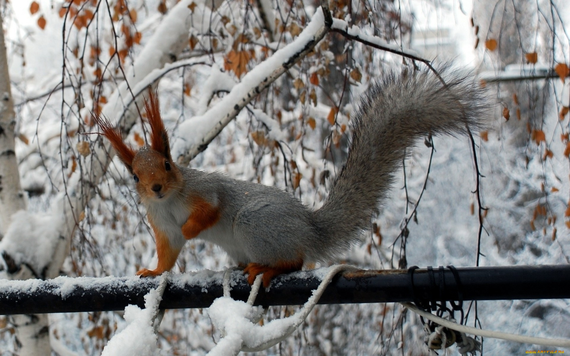
M0 248L15 263L31 264L28 277L132 276L156 263L153 237L127 170L116 158L106 173L100 170L108 156L103 141L89 134L97 131L91 112L121 120L129 142L143 144L143 120L134 105L125 107L133 93L154 82L173 154L184 155L215 124L213 117L233 108L232 89L242 94L243 87L257 84L258 77L249 73L263 69L259 63L303 40L301 31L311 30L318 3L229 1L208 7L184 0L36 1L37 9L28 0L2 6L15 151L27 210L13 215L10 226L0 226ZM499 73L508 64L527 64L530 72L568 64L564 30L570 11L564 0L522 4L516 11L512 6L486 0L331 2L333 17L363 33L474 75ZM278 186L319 207L345 152L360 93L385 68L401 66L401 56L328 34L190 166ZM430 164L431 148L420 142L373 221L378 230L338 261L361 268L474 266L480 213L480 265L569 263L569 118L561 115L569 106L568 78L486 85L496 108L490 108L491 129L475 137L475 152L465 137L434 138ZM474 154L485 210L479 210L473 193ZM67 249L60 236L70 236ZM46 269L59 249L69 252L63 264ZM213 245L191 241L173 272L232 264ZM7 267L2 273L19 278ZM270 308L264 320L296 309ZM101 354L127 321L145 318L141 313L130 308L50 315L51 346L60 355ZM471 310L467 324L474 324L474 315ZM570 338L566 300L479 302L477 317L485 329ZM211 318L206 309L168 310L158 349L169 355L206 354L220 338ZM427 354L423 338L419 318L400 305L317 306L298 332L260 354ZM18 322L0 318L0 354L19 354L22 342ZM529 349L540 347L495 339L483 343L490 355ZM449 354L457 354L454 347Z

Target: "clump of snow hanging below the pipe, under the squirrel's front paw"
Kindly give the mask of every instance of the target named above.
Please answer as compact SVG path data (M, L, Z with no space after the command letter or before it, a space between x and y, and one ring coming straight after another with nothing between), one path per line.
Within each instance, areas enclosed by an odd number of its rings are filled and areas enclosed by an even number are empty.
M115 334L103 349L101 356L153 356L160 354L153 321L162 297L156 289L144 296L145 309L136 305L125 308L125 321L128 325Z

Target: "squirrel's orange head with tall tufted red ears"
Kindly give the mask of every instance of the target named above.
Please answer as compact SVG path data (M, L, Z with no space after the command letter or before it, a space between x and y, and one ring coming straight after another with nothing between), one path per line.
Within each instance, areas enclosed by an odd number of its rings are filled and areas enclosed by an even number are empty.
M133 175L132 179L143 203L150 203L177 194L182 189L183 181L180 169L170 156L168 134L160 117L158 99L150 89L144 107L150 124L150 145L139 150L125 144L119 130L107 118L96 116L95 122Z

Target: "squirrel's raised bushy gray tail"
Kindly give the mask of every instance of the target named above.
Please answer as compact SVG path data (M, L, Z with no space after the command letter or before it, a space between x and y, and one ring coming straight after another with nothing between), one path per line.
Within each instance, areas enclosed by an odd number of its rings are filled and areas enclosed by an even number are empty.
M406 149L428 134L481 129L486 100L474 79L443 71L390 72L363 96L352 119L352 143L323 207L314 212L321 246L342 252L386 199ZM487 103L488 104L488 103Z

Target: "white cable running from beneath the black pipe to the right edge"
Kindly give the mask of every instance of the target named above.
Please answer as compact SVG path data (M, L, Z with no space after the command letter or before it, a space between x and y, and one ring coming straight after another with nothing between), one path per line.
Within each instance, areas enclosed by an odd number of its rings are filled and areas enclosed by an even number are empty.
M471 326L457 324L456 322L435 316L434 314L426 312L425 310L421 310L416 305L413 305L411 303L401 303L401 304L404 305L405 308L412 310L412 312L421 315L426 319L436 322L439 325L445 326L446 328L457 330L458 332L479 335L482 337L491 337L495 339L521 342L521 343L531 343L533 345L570 347L570 339L548 339L543 337L509 334L503 332L495 332L493 330L472 328Z

